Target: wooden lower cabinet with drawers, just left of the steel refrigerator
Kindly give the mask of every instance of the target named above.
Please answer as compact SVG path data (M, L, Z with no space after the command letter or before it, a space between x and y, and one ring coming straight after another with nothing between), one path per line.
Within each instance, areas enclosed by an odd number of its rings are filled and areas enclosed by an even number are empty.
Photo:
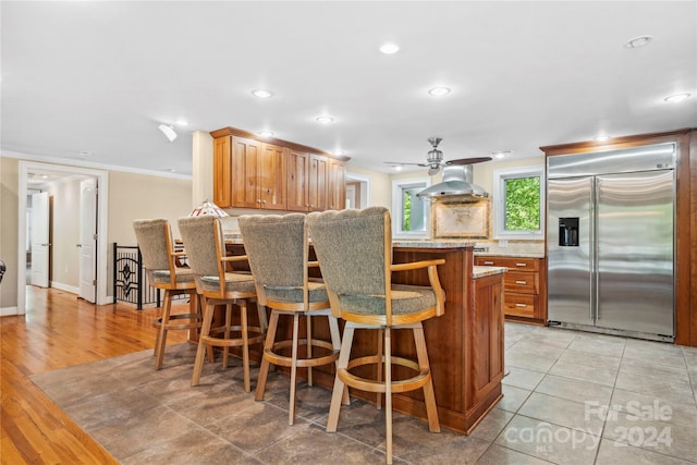
M547 259L475 257L475 265L506 267L503 311L506 319L547 323Z

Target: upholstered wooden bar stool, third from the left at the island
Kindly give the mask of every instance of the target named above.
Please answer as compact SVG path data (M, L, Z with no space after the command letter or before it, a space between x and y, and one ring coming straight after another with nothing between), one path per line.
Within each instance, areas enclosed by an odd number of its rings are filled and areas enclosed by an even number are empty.
M308 267L317 267L317 262L308 261L305 220L302 213L242 216L239 219L245 253L257 285L258 302L271 309L256 400L264 399L270 365L290 367L289 425L295 421L297 368L307 368L307 382L313 386L311 367L335 364L341 346L339 323L331 315L327 289L321 280L308 277ZM281 316L293 317L293 335L291 340L277 342L276 332ZM304 339L298 335L302 316L307 323ZM331 343L313 338L311 317L316 316L328 317ZM306 346L305 357L298 353L301 345ZM288 347L291 348L291 356L286 355ZM320 353L313 353L314 347L319 347ZM348 403L347 389L343 399Z

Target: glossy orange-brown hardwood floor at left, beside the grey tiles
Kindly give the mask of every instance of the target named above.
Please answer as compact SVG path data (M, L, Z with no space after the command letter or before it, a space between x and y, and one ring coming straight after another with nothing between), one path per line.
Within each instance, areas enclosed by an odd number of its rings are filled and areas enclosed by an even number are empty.
M26 315L0 318L0 463L117 464L28 377L152 348L159 310L97 306L68 292L27 286ZM168 344L184 341L184 331L168 335Z

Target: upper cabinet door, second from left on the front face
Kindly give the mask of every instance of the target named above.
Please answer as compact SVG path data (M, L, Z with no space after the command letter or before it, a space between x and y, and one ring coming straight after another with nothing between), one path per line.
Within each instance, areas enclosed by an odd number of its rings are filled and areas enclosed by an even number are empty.
M285 154L283 147L261 144L258 178L260 208L285 210Z

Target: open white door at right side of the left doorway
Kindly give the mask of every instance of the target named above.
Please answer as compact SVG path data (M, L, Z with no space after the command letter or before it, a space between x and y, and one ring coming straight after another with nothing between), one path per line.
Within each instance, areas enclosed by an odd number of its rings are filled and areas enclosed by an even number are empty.
M80 183L80 297L95 303L97 287L97 186L95 180Z

